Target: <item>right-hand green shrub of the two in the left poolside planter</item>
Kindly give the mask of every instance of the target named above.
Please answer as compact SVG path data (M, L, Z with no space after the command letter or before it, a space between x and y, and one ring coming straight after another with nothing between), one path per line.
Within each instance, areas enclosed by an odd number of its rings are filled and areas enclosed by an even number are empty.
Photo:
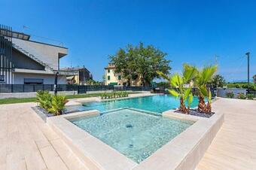
M48 108L47 111L53 115L60 115L67 102L66 96L53 96L51 108Z

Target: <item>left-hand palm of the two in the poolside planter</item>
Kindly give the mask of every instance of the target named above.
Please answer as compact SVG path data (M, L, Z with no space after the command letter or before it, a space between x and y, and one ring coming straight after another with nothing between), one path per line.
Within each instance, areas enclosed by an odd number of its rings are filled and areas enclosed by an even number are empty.
M171 77L166 76L161 71L157 71L157 73L168 80L171 87L175 87L175 89L169 89L168 91L172 96L179 97L180 106L178 111L189 113L190 104L193 102L193 94L191 93L191 87L184 88L184 85L197 76L197 68L192 65L184 64L182 74L173 74ZM187 108L184 104L185 101L187 101L188 104Z

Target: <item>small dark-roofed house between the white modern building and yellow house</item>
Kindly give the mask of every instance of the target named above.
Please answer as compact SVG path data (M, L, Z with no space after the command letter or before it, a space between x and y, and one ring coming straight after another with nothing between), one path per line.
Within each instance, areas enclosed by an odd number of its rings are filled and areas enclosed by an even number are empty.
M73 68L60 68L61 71L69 71L76 73L75 75L67 76L66 82L69 84L86 84L87 80L93 79L93 74L85 67L73 67Z

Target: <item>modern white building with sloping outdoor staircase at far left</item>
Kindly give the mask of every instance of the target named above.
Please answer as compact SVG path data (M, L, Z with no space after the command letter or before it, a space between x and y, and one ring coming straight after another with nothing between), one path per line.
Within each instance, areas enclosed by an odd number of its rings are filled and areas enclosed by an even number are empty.
M68 48L32 41L30 35L0 26L0 83L2 84L65 84L74 73L59 71L59 59Z

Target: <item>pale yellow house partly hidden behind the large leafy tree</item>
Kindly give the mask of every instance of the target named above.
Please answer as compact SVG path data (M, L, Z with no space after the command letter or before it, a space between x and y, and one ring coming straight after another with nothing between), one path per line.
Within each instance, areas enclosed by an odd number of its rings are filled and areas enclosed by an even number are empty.
M108 66L105 67L105 85L126 86L126 79L124 79L121 74L115 73L114 70L115 66L112 64L108 64ZM131 86L142 86L140 77L136 80L132 80Z

